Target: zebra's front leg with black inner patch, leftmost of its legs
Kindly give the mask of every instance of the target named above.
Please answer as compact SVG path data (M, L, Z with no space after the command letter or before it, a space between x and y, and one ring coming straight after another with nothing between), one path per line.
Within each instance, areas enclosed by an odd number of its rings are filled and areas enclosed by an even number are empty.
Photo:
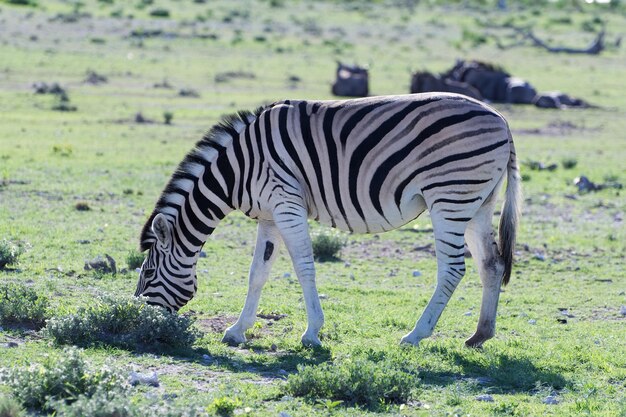
M252 265L250 265L246 303L237 322L226 329L222 342L233 346L246 342L246 330L252 327L256 321L256 312L259 307L261 290L269 277L272 264L278 253L279 245L280 233L274 222L260 220L256 246L254 248L254 257L252 259Z

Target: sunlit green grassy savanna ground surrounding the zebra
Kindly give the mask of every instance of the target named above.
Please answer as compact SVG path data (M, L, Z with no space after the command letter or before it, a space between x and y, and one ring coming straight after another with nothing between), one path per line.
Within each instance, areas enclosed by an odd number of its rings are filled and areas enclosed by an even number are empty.
M417 348L398 345L435 284L427 215L395 232L347 235L341 261L318 264L323 349L300 346L304 306L284 251L261 299L269 318L259 318L245 346L222 345L222 331L243 306L255 242L255 224L233 214L205 245L198 293L183 309L202 332L192 350L84 351L96 364L157 372L160 387L136 388L133 401L207 406L229 398L236 414L257 416L626 415L625 192L609 187L581 194L573 185L581 174L596 183L626 181L626 48L615 45L626 27L623 6L10 3L0 2L0 240L25 252L0 271L0 280L48 297L50 316L97 295L134 292L134 271L98 274L84 271L85 261L106 253L125 267L161 189L203 132L240 109L284 98L332 98L337 59L369 65L376 95L408 92L413 70L443 71L468 58L502 65L540 91L561 90L599 106L496 106L510 122L522 162L558 167L522 167L517 264L501 295L496 338L484 349L463 347L480 303L469 259L433 337ZM159 17L163 10L169 16ZM604 25L608 48L597 56L498 48L495 38L507 43L511 31L495 27L507 23L578 47ZM106 82L86 82L89 71ZM76 110L53 110L61 102L35 94L36 82L59 83L69 97L65 106ZM180 94L183 89L197 97ZM138 113L151 122L137 123ZM563 161L575 167L566 169ZM5 326L0 342L17 343L0 345L5 369L62 349L20 327ZM339 404L285 390L299 365L385 357L418 370L404 404ZM8 393L0 385L0 395ZM477 400L484 395L493 401Z

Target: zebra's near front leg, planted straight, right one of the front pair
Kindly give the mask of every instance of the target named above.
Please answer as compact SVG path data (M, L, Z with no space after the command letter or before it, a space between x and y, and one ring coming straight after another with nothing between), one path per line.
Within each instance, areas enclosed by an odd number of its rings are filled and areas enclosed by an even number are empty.
M276 207L274 220L289 251L304 295L307 328L301 338L302 344L321 346L318 333L324 324L324 313L315 285L315 264L307 211L300 204L286 202Z

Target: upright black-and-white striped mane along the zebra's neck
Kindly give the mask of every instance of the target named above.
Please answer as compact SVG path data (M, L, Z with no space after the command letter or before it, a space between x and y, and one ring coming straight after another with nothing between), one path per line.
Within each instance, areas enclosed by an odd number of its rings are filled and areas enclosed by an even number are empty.
M172 214L174 210L172 203L180 205L181 202L184 201L183 193L187 193L191 190L195 180L198 178L199 169L212 163L217 158L220 149L230 145L240 132L253 123L263 110L270 106L261 106L254 112L239 111L235 114L223 116L222 119L196 143L194 148L187 153L178 165L178 168L176 168L176 171L174 171L167 186L157 200L152 214L141 230L139 240L140 251L144 252L150 249L152 244L156 241L156 236L152 232L152 221L156 215L164 213L169 217L175 218L175 215Z

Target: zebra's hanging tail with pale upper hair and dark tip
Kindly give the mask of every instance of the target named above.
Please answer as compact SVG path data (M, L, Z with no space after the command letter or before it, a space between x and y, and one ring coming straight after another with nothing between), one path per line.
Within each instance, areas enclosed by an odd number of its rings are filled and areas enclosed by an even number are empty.
M500 225L498 227L500 255L504 261L504 285L508 284L511 278L515 238L522 207L522 186L519 166L517 164L513 139L510 136L509 140L511 144L511 154L507 166L506 196L500 216Z

